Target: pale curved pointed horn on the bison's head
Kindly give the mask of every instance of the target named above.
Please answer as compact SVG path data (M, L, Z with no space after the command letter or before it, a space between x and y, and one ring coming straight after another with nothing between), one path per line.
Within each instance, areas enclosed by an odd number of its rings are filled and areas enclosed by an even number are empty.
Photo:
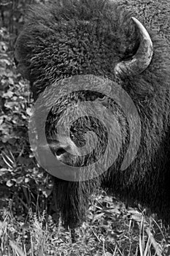
M132 20L139 30L140 45L136 54L131 58L131 60L121 61L116 65L115 75L117 77L138 75L149 66L150 61L152 60L153 48L150 35L139 20L134 17L132 17Z

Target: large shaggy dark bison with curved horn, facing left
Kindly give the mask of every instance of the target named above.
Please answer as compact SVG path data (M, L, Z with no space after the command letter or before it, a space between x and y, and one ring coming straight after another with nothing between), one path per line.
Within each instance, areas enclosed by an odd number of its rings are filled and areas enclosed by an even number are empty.
M158 8L163 12L158 12ZM74 121L70 136L56 140L58 118L69 106L77 110L77 102L101 102L120 125L121 150L108 170L81 181L53 177L54 202L65 227L81 224L90 196L101 188L126 203L149 207L170 224L169 10L168 2L136 0L57 0L35 4L28 10L15 44L15 61L31 83L35 102L50 86L58 86L60 95L56 95L45 126L55 157L67 167L85 165L93 173L91 163L106 150L108 132L94 117L100 107L92 110L92 117L84 111L84 117ZM77 75L98 77L99 92L82 90L62 97L60 81ZM121 170L121 165L132 135L123 110L104 96L105 79L112 80L111 89L120 86L129 95L139 114L140 144L125 170ZM68 86L74 85L68 82ZM51 98L45 94L43 97L42 104L51 104ZM67 114L64 117L66 125ZM117 128L112 120L107 119L107 123L113 140ZM98 145L90 154L80 156L77 151L85 144L85 132L90 130L96 133ZM107 151L108 159L112 157L112 145Z

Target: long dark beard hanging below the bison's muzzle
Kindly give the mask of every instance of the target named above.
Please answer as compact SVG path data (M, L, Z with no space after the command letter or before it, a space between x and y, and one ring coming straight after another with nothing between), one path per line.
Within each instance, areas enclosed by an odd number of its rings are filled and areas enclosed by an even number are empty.
M61 212L63 226L77 227L85 220L90 195L96 188L96 182L69 182L57 178L54 182L55 206Z

